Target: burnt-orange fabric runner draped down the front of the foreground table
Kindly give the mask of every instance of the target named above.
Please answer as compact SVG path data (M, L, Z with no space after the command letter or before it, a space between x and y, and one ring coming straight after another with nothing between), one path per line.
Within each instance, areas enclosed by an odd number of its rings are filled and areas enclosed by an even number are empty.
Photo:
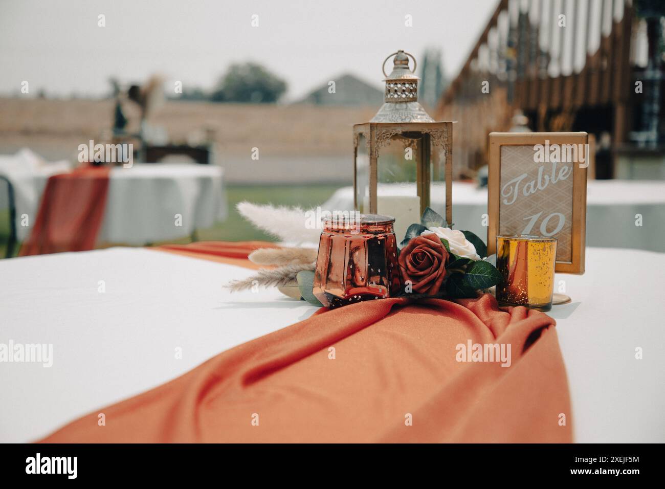
M491 295L320 309L43 441L571 442L554 325ZM509 366L458 361L493 343L511 345Z

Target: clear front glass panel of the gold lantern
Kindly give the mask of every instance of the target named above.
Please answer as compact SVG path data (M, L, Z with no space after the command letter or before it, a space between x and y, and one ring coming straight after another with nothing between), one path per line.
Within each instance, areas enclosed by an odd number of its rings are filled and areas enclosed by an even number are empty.
M404 239L410 224L420 222L421 208L428 205L419 184L419 178L424 176L424 136L420 133L393 136L380 148L378 156L376 212L395 218L398 242Z

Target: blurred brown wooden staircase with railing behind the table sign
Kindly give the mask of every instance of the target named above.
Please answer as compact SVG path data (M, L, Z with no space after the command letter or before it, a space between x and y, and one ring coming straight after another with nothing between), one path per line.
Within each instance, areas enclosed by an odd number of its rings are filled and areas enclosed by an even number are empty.
M519 110L531 130L593 134L589 178L665 178L664 15L659 1L501 0L438 100L437 116L466 122L460 171L486 164L487 134Z

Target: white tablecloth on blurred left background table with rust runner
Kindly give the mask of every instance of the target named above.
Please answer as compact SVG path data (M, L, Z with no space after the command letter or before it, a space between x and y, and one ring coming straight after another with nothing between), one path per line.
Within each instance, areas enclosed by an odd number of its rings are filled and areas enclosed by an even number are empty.
M68 165L28 166L17 156L0 159L0 174L12 182L17 208L17 234L25 240L37 218L41 195L49 176ZM63 164L64 163L64 164ZM0 184L0 187L4 187ZM4 189L2 190L4 192ZM0 208L6 198L0 196ZM30 226L21 226L27 214ZM176 214L182 219L176 225ZM138 164L114 167L110 172L100 243L144 245L190 236L226 218L223 169L200 164Z

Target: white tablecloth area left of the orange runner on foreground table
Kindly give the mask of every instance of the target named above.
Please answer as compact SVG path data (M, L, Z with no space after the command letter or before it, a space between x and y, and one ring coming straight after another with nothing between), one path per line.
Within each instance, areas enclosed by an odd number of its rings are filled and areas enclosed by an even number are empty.
M316 311L222 288L251 273L124 247L0 260L0 343L53 343L52 367L0 363L0 442L46 436Z

